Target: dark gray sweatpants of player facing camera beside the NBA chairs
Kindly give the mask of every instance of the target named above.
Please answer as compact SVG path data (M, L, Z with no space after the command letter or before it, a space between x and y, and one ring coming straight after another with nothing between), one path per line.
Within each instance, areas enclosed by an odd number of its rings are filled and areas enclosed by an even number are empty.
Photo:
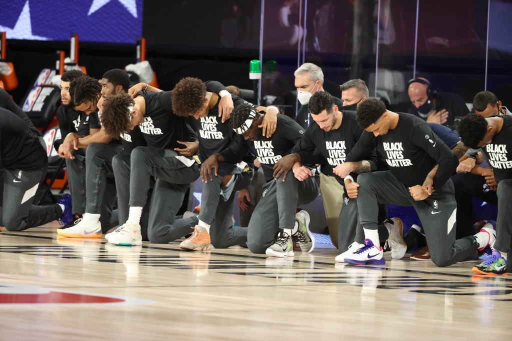
M68 183L73 199L73 214L83 214L86 211L86 157L75 153L73 160L66 159Z

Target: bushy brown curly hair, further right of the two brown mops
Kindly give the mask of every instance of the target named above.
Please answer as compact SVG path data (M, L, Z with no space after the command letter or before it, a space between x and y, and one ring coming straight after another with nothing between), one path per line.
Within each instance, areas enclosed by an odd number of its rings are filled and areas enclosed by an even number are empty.
M173 112L176 116L192 116L202 108L205 97L206 86L201 79L182 78L173 89Z

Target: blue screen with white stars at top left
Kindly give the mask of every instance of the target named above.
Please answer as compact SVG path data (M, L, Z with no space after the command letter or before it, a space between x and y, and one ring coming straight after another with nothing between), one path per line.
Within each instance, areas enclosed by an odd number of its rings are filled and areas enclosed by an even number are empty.
M1 0L0 32L7 39L134 44L142 36L143 0Z

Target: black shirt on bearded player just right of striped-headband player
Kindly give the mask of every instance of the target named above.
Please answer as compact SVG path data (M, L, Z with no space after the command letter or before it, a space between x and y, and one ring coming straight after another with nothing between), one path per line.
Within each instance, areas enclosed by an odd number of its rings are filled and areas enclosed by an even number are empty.
M292 153L300 155L303 163L316 163L316 160L311 158L316 148L323 157L322 173L334 176L332 170L338 164L345 162L348 153L364 131L357 124L355 115L355 111L344 111L342 124L338 129L330 132L326 132L318 124L311 124L304 138L293 148ZM364 159L370 162L372 172L377 169L375 150L372 150ZM356 175L352 174L352 177L355 179ZM342 178L336 176L336 180L344 185Z

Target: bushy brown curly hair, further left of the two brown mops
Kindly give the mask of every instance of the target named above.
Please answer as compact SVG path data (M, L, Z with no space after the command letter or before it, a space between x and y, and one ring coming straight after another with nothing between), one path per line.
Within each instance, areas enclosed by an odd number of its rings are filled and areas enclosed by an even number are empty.
M103 102L101 123L105 132L118 138L121 133L130 130L131 113L129 108L135 104L133 98L127 93L108 96Z

